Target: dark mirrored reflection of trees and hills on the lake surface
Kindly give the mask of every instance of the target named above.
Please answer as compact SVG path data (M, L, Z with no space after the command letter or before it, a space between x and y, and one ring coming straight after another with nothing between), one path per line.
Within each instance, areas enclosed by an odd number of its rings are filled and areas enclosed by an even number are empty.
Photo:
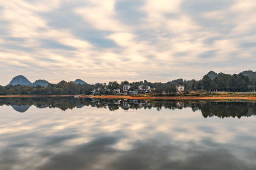
M30 106L38 109L59 108L63 111L73 108L91 106L106 108L110 111L118 109L137 110L157 108L165 109L192 108L192 111L201 111L204 117L218 116L242 117L256 114L255 102L221 102L221 101L171 101L171 100L113 100L113 99L86 99L73 97L42 97L42 98L0 98L0 106L12 106L14 110L24 113Z

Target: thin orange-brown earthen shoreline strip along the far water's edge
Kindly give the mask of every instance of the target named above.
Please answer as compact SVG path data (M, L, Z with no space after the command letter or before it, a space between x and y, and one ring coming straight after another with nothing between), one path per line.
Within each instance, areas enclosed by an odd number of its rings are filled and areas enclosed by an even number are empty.
M0 95L5 97L74 97L75 95ZM252 95L219 95L219 96L147 96L147 95L79 95L79 98L101 98L101 99L137 99L137 100L248 100L256 101Z

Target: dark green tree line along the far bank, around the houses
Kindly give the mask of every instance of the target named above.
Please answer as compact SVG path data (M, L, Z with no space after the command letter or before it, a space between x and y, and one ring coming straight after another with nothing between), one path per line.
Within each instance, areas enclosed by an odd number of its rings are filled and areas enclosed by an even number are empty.
M129 84L130 90L138 89L138 85L148 85L152 87L152 94L176 94L176 85L185 85L185 93L195 90L207 90L207 91L249 91L256 89L256 80L250 81L249 78L243 74L219 74L214 79L211 79L208 75L205 75L202 80L183 80L177 79L167 83L155 82L151 83L146 80L140 82L123 81L120 84L118 82L97 83L95 85L90 84L75 84L73 82L61 81L58 84L48 84L45 87L37 85L25 86L25 85L6 85L0 86L0 95L76 95L76 94L91 94L92 90L98 87L103 89L104 87L110 89L110 91L100 90L100 94L113 94L114 89L123 89L123 85Z

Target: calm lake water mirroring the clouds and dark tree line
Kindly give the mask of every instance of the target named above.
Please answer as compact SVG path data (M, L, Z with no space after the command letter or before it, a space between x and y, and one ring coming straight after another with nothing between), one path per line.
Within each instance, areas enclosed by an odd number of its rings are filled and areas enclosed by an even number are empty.
M256 104L0 98L0 170L256 170Z

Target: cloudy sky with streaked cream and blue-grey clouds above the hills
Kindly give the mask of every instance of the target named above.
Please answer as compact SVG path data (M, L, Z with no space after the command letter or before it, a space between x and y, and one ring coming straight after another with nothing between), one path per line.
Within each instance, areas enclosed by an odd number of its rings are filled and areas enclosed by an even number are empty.
M0 85L256 71L255 0L0 0Z

